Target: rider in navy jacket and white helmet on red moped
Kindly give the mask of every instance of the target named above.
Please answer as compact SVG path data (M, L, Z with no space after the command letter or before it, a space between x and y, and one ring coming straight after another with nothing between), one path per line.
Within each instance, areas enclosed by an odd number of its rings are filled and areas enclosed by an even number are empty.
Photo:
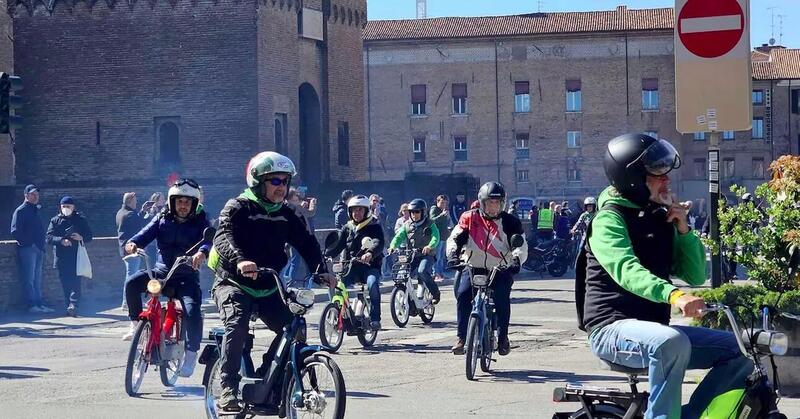
M155 265L154 273L157 278L162 279L167 276L179 256L183 256L195 244L203 240L203 231L209 227L205 212L197 213L200 199L197 182L191 179L180 179L169 188L167 195L167 207L154 216L147 226L125 244L125 252L133 254L155 240L159 260ZM182 377L189 377L194 372L197 351L200 349L200 340L203 338L203 315L200 312L203 298L197 270L206 260L210 246L210 243L203 243L197 253L192 256L193 269L179 269L170 279L172 284L176 284L175 296L181 301L183 313L186 316L186 357L183 367L179 371ZM155 261L151 262L155 263ZM128 303L131 328L123 336L123 340L130 340L133 337L139 313L142 312L141 295L147 289L148 280L147 272L140 271L125 281L125 298Z

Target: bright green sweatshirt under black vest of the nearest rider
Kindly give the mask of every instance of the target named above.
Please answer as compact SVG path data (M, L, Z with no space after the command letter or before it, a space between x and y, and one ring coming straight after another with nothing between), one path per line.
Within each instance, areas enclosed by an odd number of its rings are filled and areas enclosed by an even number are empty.
M606 204L641 208L623 198L609 186L600 194L598 208ZM592 220L589 246L595 258L611 278L627 291L657 303L669 303L669 294L676 286L653 275L633 253L625 220L611 210L598 211ZM693 286L706 281L706 254L703 243L693 231L686 234L675 229L672 246L672 274Z

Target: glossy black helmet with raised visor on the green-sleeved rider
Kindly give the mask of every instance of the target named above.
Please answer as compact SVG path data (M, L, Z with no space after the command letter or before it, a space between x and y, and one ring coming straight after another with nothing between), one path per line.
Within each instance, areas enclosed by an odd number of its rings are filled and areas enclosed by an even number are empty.
M663 176L681 166L681 157L667 140L646 134L624 134L608 142L603 168L608 181L636 204L650 200L646 176Z

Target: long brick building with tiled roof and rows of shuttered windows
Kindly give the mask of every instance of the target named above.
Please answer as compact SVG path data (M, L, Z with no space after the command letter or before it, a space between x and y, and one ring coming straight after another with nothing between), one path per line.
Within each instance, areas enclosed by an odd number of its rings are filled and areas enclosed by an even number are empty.
M705 137L675 130L673 27L670 8L624 6L370 21L364 29L369 178L468 171L500 179L511 195L582 199L607 184L602 153L610 138L650 132L682 153L685 167L673 176L673 189L682 198L705 198L707 168L695 172ZM751 140L739 132L723 142L722 157L734 158L737 170L756 165L759 156L768 165L773 156L797 152L789 146L798 133L790 96L795 104L797 97L780 78L798 78L797 50L773 49L754 61L755 69L764 68L754 73L754 92L772 99L771 122L766 106L754 109L755 121L763 118L772 134ZM783 62L794 64L777 64ZM776 66L785 72L766 69ZM736 173L741 178L734 174L729 182L755 181Z

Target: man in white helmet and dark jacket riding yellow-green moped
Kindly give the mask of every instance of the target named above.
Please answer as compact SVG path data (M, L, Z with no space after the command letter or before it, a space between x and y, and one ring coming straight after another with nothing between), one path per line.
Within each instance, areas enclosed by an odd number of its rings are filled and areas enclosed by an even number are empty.
M334 257L342 253L342 260L356 258L343 278L345 285L366 283L369 292L370 327L381 328L381 263L383 261L383 227L372 216L370 199L355 195L347 201L350 220L339 231L336 243L325 249L325 255Z

